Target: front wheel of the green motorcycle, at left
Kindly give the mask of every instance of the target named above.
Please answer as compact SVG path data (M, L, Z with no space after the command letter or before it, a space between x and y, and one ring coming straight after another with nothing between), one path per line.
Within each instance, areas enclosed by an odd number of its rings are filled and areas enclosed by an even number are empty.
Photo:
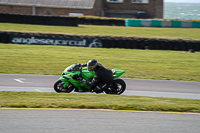
M58 93L60 92L70 93L71 91L74 90L73 85L70 83L65 88L63 87L63 85L64 82L62 82L61 80L56 81L54 84L54 90Z

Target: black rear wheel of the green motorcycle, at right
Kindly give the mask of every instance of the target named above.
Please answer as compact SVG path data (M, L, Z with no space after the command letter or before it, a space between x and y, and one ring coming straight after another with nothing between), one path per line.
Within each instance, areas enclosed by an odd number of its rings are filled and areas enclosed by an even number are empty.
M122 79L114 79L112 84L104 92L106 94L122 94L126 89L126 83Z

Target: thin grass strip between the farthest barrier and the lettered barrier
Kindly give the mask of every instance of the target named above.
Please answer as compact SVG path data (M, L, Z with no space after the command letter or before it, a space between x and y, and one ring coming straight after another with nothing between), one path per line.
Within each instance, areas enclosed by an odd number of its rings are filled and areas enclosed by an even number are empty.
M172 37L200 39L200 28L155 28L155 27L123 27L123 26L92 26L79 25L79 27L43 26L28 24L0 23L0 31L12 30L23 32L50 32L70 34L96 34L121 35L140 37Z

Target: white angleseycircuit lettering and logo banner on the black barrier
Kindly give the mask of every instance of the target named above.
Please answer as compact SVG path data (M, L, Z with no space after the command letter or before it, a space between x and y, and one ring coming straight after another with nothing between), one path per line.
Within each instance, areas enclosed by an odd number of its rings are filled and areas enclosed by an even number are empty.
M79 47L103 47L100 39L86 37L48 36L34 34L13 34L11 43L35 45L63 45Z

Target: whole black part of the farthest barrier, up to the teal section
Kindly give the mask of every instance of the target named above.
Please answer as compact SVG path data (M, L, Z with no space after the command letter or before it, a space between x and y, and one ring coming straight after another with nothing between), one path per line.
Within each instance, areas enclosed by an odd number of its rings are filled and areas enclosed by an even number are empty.
M115 19L90 19L78 17L60 17L60 16L40 16L40 15L24 15L0 13L0 22L20 23L20 24L40 24L55 26L78 26L85 25L108 25L108 26L124 26L124 20Z

